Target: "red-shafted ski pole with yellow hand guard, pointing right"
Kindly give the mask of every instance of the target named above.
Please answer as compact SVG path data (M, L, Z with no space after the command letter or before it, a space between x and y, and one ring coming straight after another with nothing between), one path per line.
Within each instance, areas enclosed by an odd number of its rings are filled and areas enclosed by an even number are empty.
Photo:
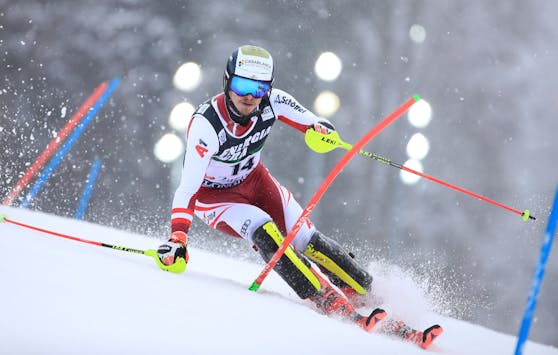
M350 145L349 143L344 142L341 139L341 137L339 137L339 133L337 133L337 131L332 132L328 135L324 135L324 134L321 134L321 133L316 132L314 130L308 130L308 131L306 131L305 140L306 140L306 144L308 145L308 147L310 147L310 149L312 149L313 151L315 151L317 153L327 153L329 151L332 151L335 148L342 148L342 149L346 149L346 150L349 150L349 149L352 148L352 145ZM476 193L474 193L472 191L469 191L467 189L464 189L462 187L450 184L449 182L443 181L441 179L435 178L435 177L427 175L425 173L421 173L420 171L413 170L413 169L411 169L411 168L409 168L405 165L395 163L392 160L390 160L386 157L383 157L379 154L370 153L370 152L364 151L362 149L359 151L359 154L363 155L367 158L374 159L374 160L376 160L380 163L383 163L383 164L386 164L386 165L389 165L389 166L393 166L394 168L398 168L398 169L407 171L411 174L418 175L420 177L423 177L427 180L430 180L430 181L435 182L437 184L440 184L442 186L449 187L450 189L453 189L455 191L462 192L462 193L467 194L469 196L475 197L475 198L477 198L481 201L488 202L492 205L495 205L497 207L500 207L500 208L503 208L503 209L508 210L510 212L513 212L515 214L518 214L518 215L522 216L523 221L527 221L528 219L536 220L536 218L531 215L531 212L529 210L525 210L525 211L522 212L522 211L517 210L515 208L511 208L509 206L504 205L503 203L500 203L500 202L494 201L492 199L489 199L488 197L481 196L479 194L476 194Z

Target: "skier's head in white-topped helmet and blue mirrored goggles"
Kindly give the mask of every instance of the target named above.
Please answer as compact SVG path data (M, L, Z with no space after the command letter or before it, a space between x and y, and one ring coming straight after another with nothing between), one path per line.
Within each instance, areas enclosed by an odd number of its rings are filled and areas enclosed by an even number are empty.
M233 121L247 125L260 114L262 99L268 99L273 83L273 58L256 46L238 47L227 60L223 88Z

